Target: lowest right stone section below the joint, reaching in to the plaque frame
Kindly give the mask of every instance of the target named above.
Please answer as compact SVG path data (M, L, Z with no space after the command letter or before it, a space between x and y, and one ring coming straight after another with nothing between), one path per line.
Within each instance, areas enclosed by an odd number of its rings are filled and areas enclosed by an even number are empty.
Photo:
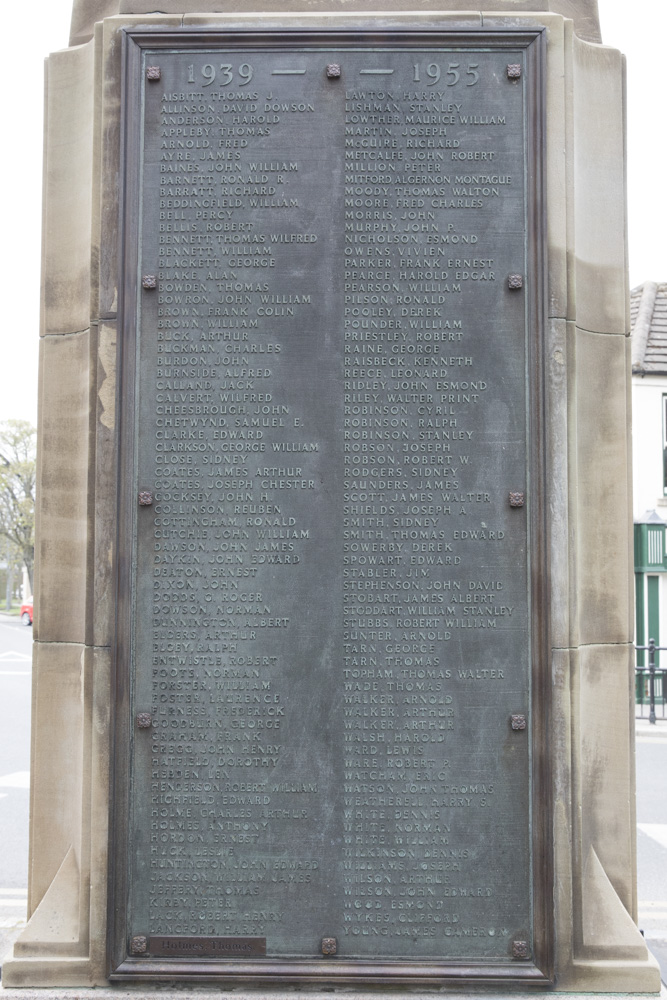
M660 989L634 920L628 865L635 853L632 678L630 644L552 654L555 912L557 935L569 942L556 955L560 989Z

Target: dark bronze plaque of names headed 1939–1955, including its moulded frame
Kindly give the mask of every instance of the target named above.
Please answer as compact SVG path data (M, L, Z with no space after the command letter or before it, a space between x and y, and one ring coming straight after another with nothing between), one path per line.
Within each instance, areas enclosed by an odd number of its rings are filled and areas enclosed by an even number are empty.
M542 46L127 33L115 978L548 975Z

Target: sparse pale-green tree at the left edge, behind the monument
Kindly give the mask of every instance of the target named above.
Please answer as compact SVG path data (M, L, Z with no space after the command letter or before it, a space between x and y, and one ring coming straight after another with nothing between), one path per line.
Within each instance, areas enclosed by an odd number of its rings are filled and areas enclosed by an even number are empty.
M33 588L37 431L26 420L0 423L0 535L18 550Z

